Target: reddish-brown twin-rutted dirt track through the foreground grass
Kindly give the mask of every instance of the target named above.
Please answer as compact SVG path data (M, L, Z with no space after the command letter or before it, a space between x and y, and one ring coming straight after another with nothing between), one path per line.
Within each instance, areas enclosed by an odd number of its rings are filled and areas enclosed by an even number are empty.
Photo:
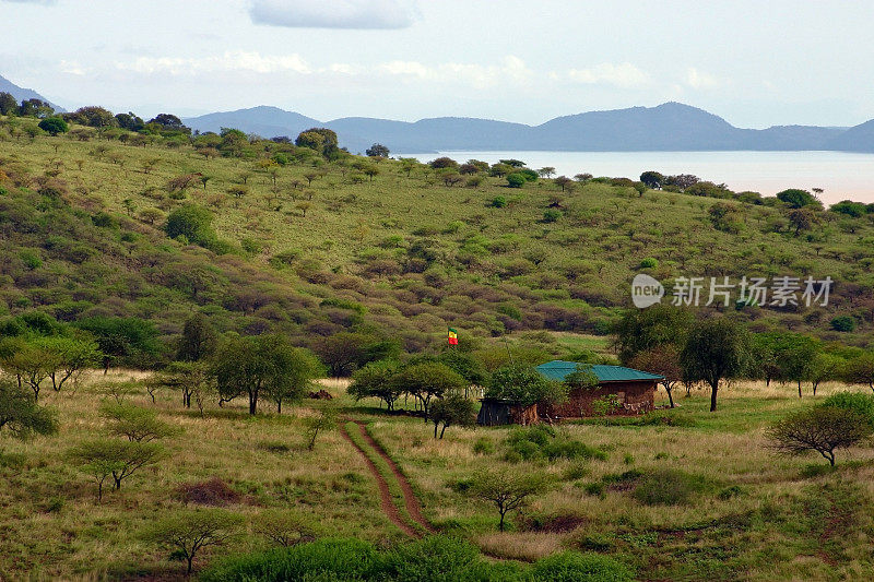
M355 420L354 418L347 418L346 420L355 423L361 432L361 437L366 443L366 446L369 447L374 452L376 452L376 454L378 454L391 470L391 474L398 482L401 492L403 494L404 507L406 508L406 512L409 513L410 518L417 525L421 525L426 532L434 533L435 532L434 526L430 523L428 523L428 521L422 514L422 502L416 497L415 491L413 490L413 486L410 484L410 480L406 478L403 472L401 472L401 468L398 466L398 464L394 461L392 461L391 456L389 456L386 450L382 449L382 447L380 447L376 440L374 440L374 438L370 436L369 432L367 432L366 425L363 420ZM406 535L414 537L421 536L421 532L415 527L413 527L410 523L408 523L403 519L403 515L401 515L401 512L394 506L394 502L391 498L391 491L389 490L389 484L386 480L386 477L382 476L381 473L379 473L379 468L373 461L370 461L370 459L367 456L366 451L362 449L362 447L359 447L352 439L352 437L349 435L345 425L341 426L341 432L343 433L343 437L350 443L352 443L352 446L355 447L355 449L361 453L365 463L367 463L367 467L374 475L374 478L376 479L377 485L379 486L379 494L382 501L382 511L386 513L386 515L388 515L388 518L395 525L398 525L398 527L400 527Z

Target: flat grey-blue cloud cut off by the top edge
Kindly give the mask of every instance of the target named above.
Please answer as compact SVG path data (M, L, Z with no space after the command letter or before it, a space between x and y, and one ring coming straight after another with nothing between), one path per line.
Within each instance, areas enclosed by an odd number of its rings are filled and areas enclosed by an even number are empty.
M415 0L251 0L256 24L292 28L406 28L418 16Z

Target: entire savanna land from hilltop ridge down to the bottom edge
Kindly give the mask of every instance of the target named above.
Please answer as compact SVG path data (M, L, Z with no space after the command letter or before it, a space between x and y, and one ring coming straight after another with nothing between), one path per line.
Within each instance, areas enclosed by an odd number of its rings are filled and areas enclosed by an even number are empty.
M874 578L874 205L39 122L0 118L0 577ZM637 273L835 287L629 310ZM460 426L471 388L539 399L533 365L641 354L677 408ZM843 390L861 412L811 406ZM851 429L835 468L768 447L807 409ZM517 480L504 523L488 488Z

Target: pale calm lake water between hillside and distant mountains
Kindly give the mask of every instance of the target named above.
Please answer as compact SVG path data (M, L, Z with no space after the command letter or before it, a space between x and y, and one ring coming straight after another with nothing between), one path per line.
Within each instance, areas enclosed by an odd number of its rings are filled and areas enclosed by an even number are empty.
M440 152L398 154L428 162L447 155L494 164L517 158L530 168L553 166L556 175L638 179L646 170L694 174L702 180L725 183L735 192L753 190L773 195L787 188L822 188L823 202L874 202L874 154L843 152Z

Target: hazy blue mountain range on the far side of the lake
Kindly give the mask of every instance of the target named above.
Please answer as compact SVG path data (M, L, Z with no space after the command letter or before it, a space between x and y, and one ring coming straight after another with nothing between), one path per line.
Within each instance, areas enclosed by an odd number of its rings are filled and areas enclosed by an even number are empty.
M334 130L340 144L363 152L381 143L394 153L437 151L801 151L874 152L874 120L853 128L775 126L736 128L713 114L681 103L557 117L540 126L466 117L415 122L369 117L319 121L276 107L253 107L185 120L200 131L236 128L273 138L296 136L311 127Z

